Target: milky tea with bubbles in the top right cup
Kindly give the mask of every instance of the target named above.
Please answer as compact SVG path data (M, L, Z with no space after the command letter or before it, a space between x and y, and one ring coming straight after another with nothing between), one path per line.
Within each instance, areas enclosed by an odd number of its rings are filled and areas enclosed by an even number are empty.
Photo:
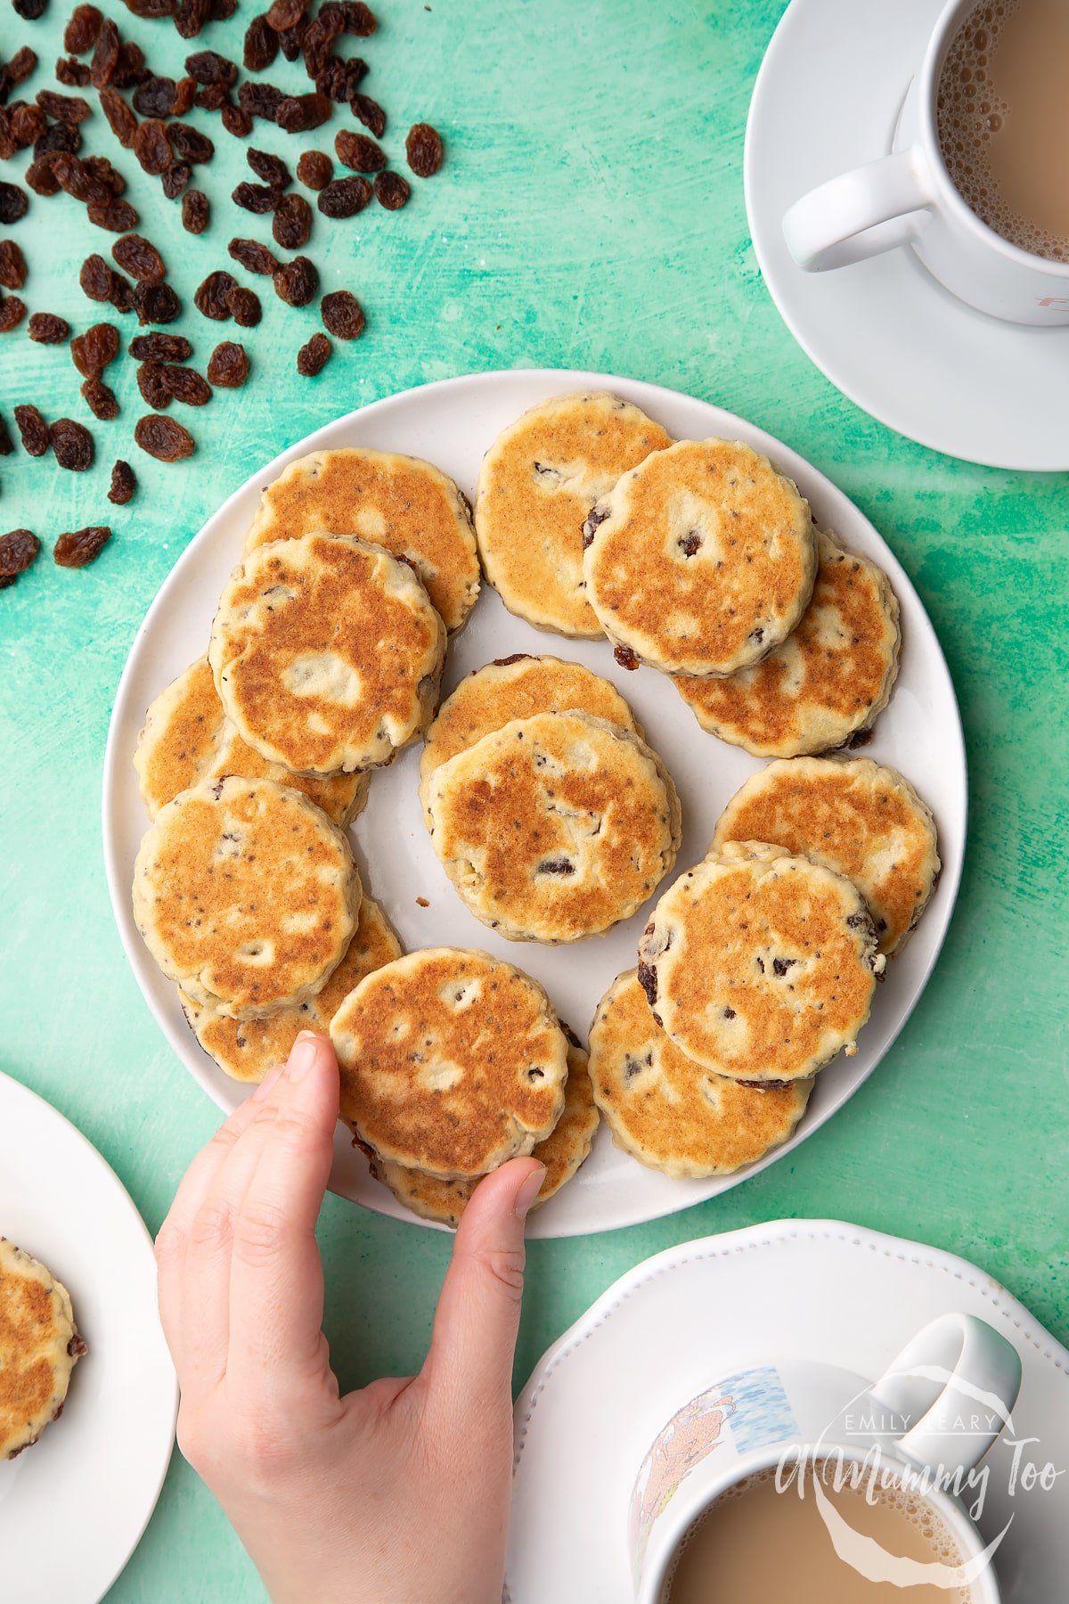
M1069 0L974 6L936 103L955 189L995 233L1069 261Z

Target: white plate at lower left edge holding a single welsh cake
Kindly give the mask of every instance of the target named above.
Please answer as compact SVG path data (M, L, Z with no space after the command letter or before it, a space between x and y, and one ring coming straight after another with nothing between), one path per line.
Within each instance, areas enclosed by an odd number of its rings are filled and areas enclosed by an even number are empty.
M90 1344L63 1418L35 1447L0 1463L0 1598L96 1604L160 1495L178 1383L141 1216L82 1132L6 1075L0 1235L59 1277Z

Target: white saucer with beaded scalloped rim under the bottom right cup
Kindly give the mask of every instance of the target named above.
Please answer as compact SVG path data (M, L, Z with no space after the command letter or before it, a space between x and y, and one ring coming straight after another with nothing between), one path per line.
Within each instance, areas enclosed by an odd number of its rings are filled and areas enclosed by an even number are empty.
M684 1241L611 1286L535 1367L516 1402L508 1604L623 1604L625 1516L665 1421L718 1376L766 1359L816 1359L875 1379L906 1339L949 1310L978 1314L1024 1365L1013 1410L1023 1460L1069 1471L1069 1354L965 1259L838 1221L773 1221ZM1069 1575L1069 1474L1018 1487L1003 1439L981 1530L1003 1604L1055 1604Z

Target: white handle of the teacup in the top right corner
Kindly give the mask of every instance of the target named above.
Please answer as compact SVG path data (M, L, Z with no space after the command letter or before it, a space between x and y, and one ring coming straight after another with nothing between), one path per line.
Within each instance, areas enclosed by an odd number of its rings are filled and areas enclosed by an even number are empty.
M848 268L917 239L933 200L928 162L914 144L795 200L784 215L787 249L806 273Z

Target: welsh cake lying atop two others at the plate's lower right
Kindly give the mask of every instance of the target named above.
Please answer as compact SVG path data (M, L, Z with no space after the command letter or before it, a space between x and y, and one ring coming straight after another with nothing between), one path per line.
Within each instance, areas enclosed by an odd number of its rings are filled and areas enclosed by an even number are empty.
M681 874L638 946L654 1019L681 1052L781 1084L856 1052L883 964L856 885L763 842L728 842Z

